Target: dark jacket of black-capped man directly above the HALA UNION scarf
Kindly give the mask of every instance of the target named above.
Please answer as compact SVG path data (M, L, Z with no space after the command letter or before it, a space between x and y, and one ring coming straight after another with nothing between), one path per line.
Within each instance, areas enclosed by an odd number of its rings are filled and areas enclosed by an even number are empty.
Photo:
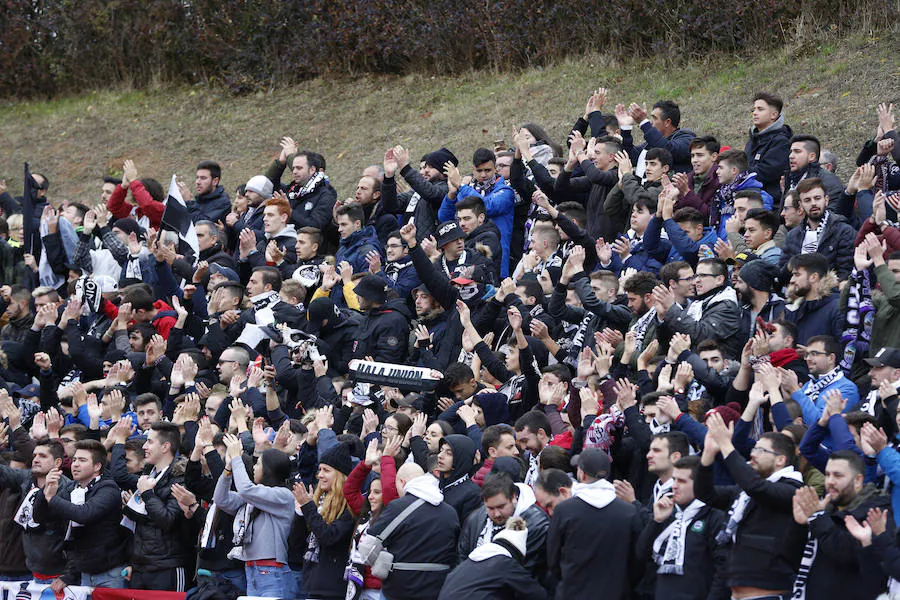
M378 362L405 362L410 317L406 302L400 298L370 309L359 325L352 346L353 358L371 356Z

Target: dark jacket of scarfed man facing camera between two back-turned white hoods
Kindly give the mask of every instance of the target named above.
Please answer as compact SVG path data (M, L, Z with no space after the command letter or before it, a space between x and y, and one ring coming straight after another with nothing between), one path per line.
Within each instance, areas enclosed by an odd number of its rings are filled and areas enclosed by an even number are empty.
M519 492L519 498L516 503L514 517L522 517L528 527L528 550L522 561L524 566L531 575L540 579L544 571L547 569L547 530L550 528L550 519L538 505L534 497L534 491L531 487L517 483L516 489ZM463 562L475 548L479 547L479 537L487 525L488 515L487 509L482 506L469 515L463 523L462 531L459 534L459 544L457 545L457 553L459 562Z

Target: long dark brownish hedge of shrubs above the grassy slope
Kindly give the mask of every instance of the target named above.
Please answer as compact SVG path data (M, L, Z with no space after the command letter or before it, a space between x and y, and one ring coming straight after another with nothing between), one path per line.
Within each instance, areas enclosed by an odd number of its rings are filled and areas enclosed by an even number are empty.
M788 41L801 21L879 27L897 13L891 0L0 0L0 94L154 80L240 93L329 73L517 68L589 49L746 53Z

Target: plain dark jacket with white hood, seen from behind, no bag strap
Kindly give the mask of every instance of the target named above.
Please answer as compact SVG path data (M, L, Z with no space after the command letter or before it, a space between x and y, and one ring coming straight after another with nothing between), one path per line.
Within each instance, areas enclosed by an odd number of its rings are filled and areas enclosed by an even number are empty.
M555 597L593 600L603 590L610 600L631 598L639 575L633 558L641 530L637 509L617 499L605 479L576 483L572 495L553 511L547 532L547 564L560 580Z

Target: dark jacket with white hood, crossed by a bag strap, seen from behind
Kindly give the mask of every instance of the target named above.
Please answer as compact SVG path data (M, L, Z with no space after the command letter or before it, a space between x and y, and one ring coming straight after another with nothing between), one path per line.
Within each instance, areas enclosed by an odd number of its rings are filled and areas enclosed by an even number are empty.
M403 496L385 506L381 516L369 526L369 534L379 535L401 512L417 499L425 503L400 523L384 541L395 563L456 564L459 517L444 502L438 481L422 475L408 481ZM436 600L450 569L411 571L394 569L382 581L381 589L391 600Z

